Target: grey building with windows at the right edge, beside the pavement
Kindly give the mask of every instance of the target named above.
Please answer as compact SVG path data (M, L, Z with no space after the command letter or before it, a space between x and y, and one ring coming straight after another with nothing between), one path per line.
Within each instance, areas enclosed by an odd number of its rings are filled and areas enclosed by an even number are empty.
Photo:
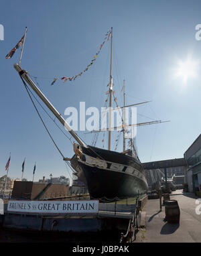
M188 170L188 191L201 192L201 134L184 153Z

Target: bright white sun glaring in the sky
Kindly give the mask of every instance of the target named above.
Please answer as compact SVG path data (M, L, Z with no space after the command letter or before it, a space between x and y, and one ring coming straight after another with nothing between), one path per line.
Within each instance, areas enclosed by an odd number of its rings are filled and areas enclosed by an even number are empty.
M197 60L192 60L188 57L186 61L178 61L178 67L176 68L175 76L176 78L181 77L184 84L186 84L188 78L195 78L198 72L199 62Z

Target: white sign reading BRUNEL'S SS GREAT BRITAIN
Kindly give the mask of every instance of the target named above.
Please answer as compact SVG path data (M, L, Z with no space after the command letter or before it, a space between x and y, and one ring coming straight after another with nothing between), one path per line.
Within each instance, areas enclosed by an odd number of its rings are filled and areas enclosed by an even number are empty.
M98 213L98 200L18 201L9 200L8 212L27 213Z

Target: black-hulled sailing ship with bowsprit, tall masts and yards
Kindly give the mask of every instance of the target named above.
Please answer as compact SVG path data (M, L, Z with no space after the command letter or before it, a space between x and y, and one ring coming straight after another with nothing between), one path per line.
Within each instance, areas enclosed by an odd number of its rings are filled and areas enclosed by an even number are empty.
M113 76L112 76L112 46L113 46L113 28L111 28L111 66L109 77L109 109L112 107L113 94ZM74 155L71 158L64 157L64 161L70 162L74 174L79 180L84 182L88 188L91 199L98 200L117 200L117 198L130 198L137 196L141 191L146 191L147 180L145 170L137 156L133 140L131 139L130 148L125 150L125 126L123 131L123 151L111 150L111 126L107 128L108 149L87 145L64 117L50 103L43 92L31 79L28 72L23 70L18 64L14 64L15 70L19 73L25 86L29 84L32 90L40 97L44 104L52 111L55 117L66 127L68 132L74 137ZM125 88L125 86L124 86ZM124 94L125 96L125 94ZM139 103L141 104L141 103ZM137 105L137 104L134 104ZM125 107L125 105L123 106ZM110 125L111 112L109 112ZM123 120L125 122L125 120ZM162 123L161 121L152 121L147 123L135 124L135 126L147 125L152 123Z

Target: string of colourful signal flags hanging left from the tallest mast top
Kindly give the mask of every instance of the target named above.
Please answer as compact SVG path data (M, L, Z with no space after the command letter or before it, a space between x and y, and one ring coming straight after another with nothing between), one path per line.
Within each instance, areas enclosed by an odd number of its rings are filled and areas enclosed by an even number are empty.
M61 80L64 80L64 82L66 82L67 80L72 81L75 80L78 76L82 76L82 74L84 74L84 72L86 72L88 70L88 68L90 68L90 66L92 66L92 64L94 64L96 58L98 57L98 54L100 53L100 50L103 48L106 40L109 40L109 37L111 36L111 30L107 31L107 34L105 34L105 38L102 44L100 44L100 48L98 49L98 52L96 52L96 54L93 56L92 60L90 61L90 64L88 64L88 66L86 66L86 68L80 72L79 74L76 74L76 76L63 76L62 78L60 78ZM58 78L54 78L54 80L52 81L51 85L53 85L56 80L58 80Z

